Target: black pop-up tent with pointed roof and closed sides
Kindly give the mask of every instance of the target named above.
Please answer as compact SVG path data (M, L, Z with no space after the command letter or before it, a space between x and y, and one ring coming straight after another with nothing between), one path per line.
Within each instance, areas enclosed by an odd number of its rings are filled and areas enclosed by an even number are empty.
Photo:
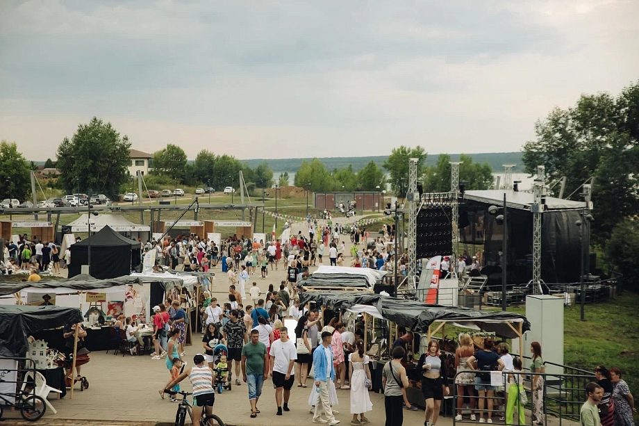
M131 270L140 265L140 242L126 238L106 226L89 238L69 247L69 278L79 275L82 265L88 265L89 245L91 275L97 279L130 275Z

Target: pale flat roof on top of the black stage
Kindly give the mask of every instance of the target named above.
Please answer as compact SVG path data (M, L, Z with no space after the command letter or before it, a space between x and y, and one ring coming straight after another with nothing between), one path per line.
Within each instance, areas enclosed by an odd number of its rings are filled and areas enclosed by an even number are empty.
M466 191L464 198L475 202L494 204L499 207L504 203L504 192L506 193L506 204L508 208L530 210L531 204L535 202L535 197L530 192L515 192L513 190L501 189ZM581 210L582 208L586 208L585 202L546 197L546 210Z

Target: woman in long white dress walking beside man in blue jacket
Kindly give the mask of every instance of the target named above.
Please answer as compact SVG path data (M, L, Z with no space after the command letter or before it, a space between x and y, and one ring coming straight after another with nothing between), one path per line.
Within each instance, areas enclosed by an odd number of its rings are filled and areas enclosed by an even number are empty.
M351 384L351 414L353 419L351 425L363 425L369 423L364 413L372 411L373 404L370 402L368 390L372 386L370 368L368 368L369 358L364 354L364 342L355 342L357 352L349 355L349 383ZM368 379L368 382L366 382ZM366 385L369 386L366 386ZM359 415L359 419L357 416Z

